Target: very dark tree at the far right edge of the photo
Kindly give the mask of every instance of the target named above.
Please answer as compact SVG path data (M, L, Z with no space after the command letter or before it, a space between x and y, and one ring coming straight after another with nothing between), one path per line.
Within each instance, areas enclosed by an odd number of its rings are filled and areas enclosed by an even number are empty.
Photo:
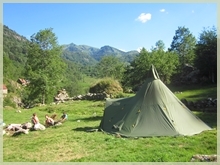
M196 45L196 67L201 75L212 82L217 81L217 30L215 27L203 29Z

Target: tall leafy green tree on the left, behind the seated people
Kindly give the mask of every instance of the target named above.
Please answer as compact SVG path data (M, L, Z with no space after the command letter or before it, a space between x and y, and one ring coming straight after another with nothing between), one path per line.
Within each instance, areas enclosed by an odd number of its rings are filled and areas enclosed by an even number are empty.
M61 87L66 68L52 28L31 36L27 58L26 75L30 81L28 99L42 104L51 102Z

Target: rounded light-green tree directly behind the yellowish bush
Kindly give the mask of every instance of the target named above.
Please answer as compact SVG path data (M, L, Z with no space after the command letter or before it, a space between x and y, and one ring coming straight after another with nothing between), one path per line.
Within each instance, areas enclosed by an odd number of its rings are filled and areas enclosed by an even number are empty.
M98 77L111 77L121 80L125 70L125 64L115 56L104 56L96 66Z

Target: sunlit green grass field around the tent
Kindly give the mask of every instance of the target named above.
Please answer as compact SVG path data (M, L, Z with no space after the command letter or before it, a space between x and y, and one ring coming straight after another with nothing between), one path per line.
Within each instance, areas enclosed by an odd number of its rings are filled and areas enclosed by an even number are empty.
M186 99L214 95L217 87L172 90L183 92ZM187 91L187 92L186 92ZM212 92L210 92L212 91ZM196 94L195 94L196 93ZM185 95L184 95L185 94ZM184 95L184 96L183 96ZM192 97L193 96L193 97ZM59 105L21 109L5 107L4 122L30 121L34 112L41 123L45 114L68 113L68 121L44 131L3 137L4 162L189 162L195 154L217 154L217 114L195 112L213 128L194 136L117 138L103 132L88 132L98 128L104 101L70 101ZM96 115L94 115L96 113Z

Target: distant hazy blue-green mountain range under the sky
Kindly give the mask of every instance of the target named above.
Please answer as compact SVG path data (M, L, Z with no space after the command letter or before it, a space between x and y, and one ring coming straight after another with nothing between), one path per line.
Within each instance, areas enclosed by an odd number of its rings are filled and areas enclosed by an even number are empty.
M83 65L95 64L106 55L113 55L124 62L131 62L134 57L139 54L138 51L124 52L111 46L103 46L98 49L87 45L76 45L71 43L69 45L64 45L63 47L64 58L70 61L76 61Z

